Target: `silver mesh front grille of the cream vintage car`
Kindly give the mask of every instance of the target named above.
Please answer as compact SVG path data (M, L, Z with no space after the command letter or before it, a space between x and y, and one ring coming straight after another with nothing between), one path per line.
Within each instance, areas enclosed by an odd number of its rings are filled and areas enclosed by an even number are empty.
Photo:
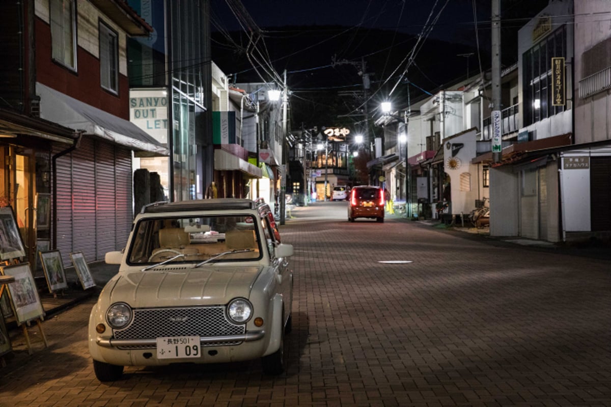
M155 339L166 336L227 336L246 332L246 325L235 325L225 317L224 306L196 308L134 309L134 319L123 330L115 330L115 339ZM238 345L241 341L212 342L202 346ZM155 345L129 346L122 349L155 348Z

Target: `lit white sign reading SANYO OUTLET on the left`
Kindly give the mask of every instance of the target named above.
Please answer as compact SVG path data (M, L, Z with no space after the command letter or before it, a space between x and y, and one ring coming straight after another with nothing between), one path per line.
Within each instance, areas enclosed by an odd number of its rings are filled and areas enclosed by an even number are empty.
M167 144L167 92L163 89L131 90L130 121Z

